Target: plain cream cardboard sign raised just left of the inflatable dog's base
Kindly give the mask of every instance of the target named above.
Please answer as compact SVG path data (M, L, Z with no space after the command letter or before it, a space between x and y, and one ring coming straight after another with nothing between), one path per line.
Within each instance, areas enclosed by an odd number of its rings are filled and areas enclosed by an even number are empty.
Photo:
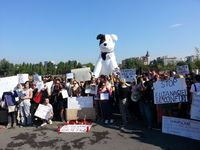
M78 69L72 69L72 73L75 75L75 79L80 82L80 81L89 81L91 79L91 74L90 74L90 68L78 68Z

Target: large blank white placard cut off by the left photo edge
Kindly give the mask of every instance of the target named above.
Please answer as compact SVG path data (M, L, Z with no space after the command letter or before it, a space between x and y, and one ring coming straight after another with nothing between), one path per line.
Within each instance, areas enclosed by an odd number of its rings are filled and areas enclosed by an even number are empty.
M18 84L18 76L0 78L0 98L4 92L13 91Z

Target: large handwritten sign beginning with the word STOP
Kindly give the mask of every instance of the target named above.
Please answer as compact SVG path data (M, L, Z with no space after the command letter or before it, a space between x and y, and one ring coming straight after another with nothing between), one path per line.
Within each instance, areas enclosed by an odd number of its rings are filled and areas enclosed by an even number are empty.
M185 78L158 80L153 87L154 104L187 102Z

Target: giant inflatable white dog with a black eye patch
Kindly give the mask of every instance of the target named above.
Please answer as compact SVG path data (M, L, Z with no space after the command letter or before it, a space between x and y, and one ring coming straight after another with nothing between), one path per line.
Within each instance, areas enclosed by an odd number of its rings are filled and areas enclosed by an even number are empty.
M97 40L99 42L99 48L101 54L94 68L94 75L98 78L100 75L110 75L116 71L119 71L116 57L114 54L115 41L117 41L115 34L99 34Z

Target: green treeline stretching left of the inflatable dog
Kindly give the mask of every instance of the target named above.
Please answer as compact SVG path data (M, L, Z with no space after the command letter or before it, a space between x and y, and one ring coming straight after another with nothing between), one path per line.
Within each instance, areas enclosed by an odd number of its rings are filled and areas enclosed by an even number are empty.
M47 63L22 63L22 64L13 64L10 63L6 59L0 60L0 76L12 76L19 73L29 73L29 75L33 75L38 73L40 75L47 75L47 74L66 74L71 71L71 69L75 68L82 68L82 67L90 67L93 70L94 66L92 63L88 64L81 64L76 60L69 60L67 62L59 62L58 64L54 64L53 62L49 61Z

